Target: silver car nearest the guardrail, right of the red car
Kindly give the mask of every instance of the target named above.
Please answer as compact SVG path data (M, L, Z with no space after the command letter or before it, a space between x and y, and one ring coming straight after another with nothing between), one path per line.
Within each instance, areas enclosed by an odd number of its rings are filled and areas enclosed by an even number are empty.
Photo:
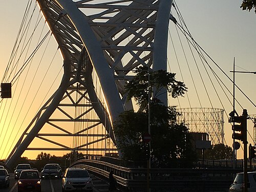
M93 183L88 171L84 168L67 168L62 176L62 191L90 191Z

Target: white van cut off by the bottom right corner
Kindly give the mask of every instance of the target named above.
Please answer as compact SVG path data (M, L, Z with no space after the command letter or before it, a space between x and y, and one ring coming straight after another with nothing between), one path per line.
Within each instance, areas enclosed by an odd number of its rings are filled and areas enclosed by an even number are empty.
M229 187L229 192L244 191L244 173L238 173ZM256 172L248 172L248 192L256 191Z

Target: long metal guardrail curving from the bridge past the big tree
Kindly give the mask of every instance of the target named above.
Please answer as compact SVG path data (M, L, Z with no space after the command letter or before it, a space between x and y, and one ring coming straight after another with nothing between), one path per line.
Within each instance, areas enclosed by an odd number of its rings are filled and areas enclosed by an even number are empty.
M81 159L71 166L84 167L95 176L108 179L113 170L122 191L146 191L147 168L128 168L109 162ZM228 191L241 168L151 168L151 191Z

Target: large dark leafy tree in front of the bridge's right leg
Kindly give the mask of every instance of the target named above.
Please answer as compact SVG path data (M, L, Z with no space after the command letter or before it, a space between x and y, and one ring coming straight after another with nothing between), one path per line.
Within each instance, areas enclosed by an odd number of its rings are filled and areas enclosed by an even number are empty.
M135 98L140 110L137 113L126 111L114 122L117 145L126 160L146 160L147 146L142 140L148 132L148 93L154 88L151 105L151 157L154 167L184 167L195 157L190 147L188 129L176 123L179 115L175 108L170 108L157 99L165 88L173 97L182 96L187 88L183 82L175 79L174 73L163 70L150 72L145 67L137 68L136 76L125 86L129 99ZM192 155L193 153L193 155ZM185 163L186 161L186 163Z

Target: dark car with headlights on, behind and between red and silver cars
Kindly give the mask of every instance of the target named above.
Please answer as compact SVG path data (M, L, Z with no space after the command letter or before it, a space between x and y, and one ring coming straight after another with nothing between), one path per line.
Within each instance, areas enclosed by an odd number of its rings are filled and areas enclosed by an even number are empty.
M46 164L44 169L42 169L42 178L60 178L61 167L57 163Z

